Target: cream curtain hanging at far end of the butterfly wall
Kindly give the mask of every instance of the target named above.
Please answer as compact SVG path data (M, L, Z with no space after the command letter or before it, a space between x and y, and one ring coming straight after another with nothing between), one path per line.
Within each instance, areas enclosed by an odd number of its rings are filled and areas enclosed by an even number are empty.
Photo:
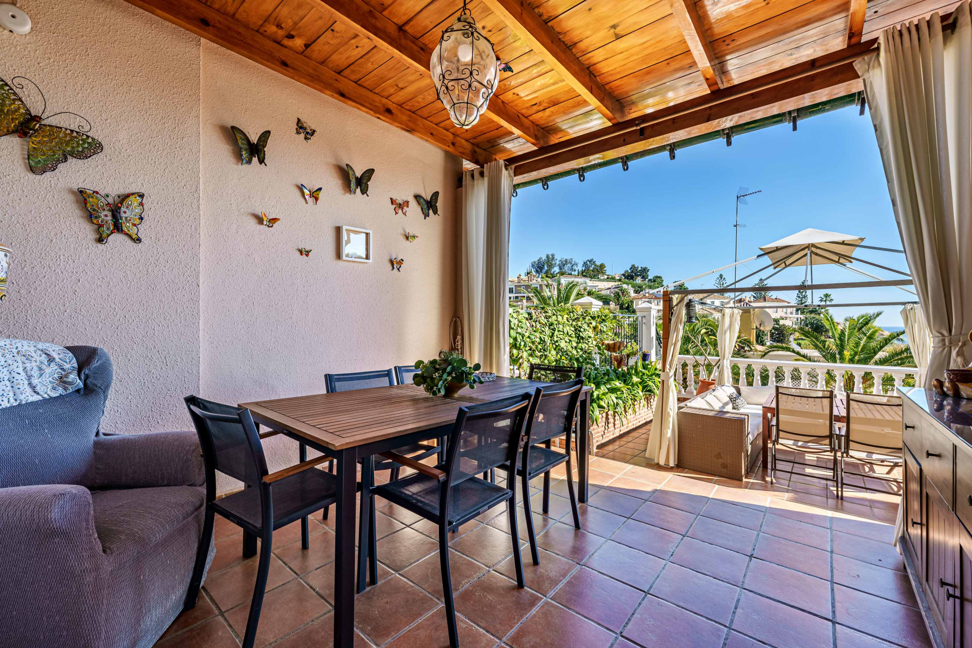
M460 303L470 362L509 374L509 207L513 173L501 161L463 174Z

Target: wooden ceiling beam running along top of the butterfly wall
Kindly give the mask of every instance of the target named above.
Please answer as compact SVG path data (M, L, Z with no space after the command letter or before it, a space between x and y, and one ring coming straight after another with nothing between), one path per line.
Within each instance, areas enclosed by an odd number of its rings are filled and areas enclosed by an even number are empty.
M226 50L260 63L297 83L312 87L341 103L412 133L463 159L483 165L498 159L444 128L411 113L306 56L278 45L259 32L197 0L127 0Z

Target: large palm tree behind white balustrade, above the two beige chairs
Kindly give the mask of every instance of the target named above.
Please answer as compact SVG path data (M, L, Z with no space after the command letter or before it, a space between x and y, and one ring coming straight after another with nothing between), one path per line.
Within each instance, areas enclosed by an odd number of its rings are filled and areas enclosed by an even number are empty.
M827 295L821 295L820 299L824 296ZM807 326L797 326L794 341L799 349L788 344L771 344L766 347L762 357L766 358L774 351L783 351L808 362L820 361L803 351L813 349L822 361L835 364L914 366L915 358L912 357L911 347L899 342L905 332L901 330L882 335L885 331L874 324L881 317L881 313L878 311L857 317L848 316L843 322L837 322L830 311L823 311L819 317L827 330L825 335L820 335ZM889 351L888 347L891 347ZM848 392L853 391L854 378L850 371L844 372L844 385Z

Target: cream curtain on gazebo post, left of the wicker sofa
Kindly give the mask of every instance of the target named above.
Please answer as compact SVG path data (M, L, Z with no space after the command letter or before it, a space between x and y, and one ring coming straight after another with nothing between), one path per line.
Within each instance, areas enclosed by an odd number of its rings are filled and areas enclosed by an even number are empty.
M675 365L681 348L681 333L685 328L685 295L672 300L672 322L669 324L669 344L665 353L668 371L661 373L661 393L655 399L655 414L648 436L645 456L662 465L674 466L678 460L678 391L675 385ZM662 314L665 317L665 314Z

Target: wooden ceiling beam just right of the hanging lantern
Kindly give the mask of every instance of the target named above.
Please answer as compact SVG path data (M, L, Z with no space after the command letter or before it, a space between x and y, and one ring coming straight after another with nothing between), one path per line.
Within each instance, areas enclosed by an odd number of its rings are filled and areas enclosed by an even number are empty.
M626 117L621 102L598 81L526 0L483 2L608 121L617 123Z

